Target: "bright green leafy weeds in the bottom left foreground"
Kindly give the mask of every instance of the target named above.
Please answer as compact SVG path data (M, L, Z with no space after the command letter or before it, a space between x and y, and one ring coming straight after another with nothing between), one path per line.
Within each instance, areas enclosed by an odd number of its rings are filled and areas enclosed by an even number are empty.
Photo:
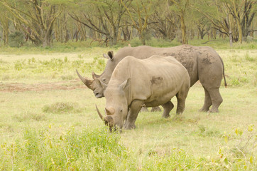
M23 139L1 144L0 170L123 170L128 155L119 140L105 127L61 135L27 128Z

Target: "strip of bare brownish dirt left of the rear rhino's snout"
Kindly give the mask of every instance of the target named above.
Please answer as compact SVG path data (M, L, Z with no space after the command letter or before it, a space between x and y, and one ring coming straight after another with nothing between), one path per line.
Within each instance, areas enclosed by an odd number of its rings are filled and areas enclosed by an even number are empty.
M53 83L1 83L0 91L4 92L23 92L23 91L43 91L43 90L72 90L76 88L86 88L80 80L58 81Z

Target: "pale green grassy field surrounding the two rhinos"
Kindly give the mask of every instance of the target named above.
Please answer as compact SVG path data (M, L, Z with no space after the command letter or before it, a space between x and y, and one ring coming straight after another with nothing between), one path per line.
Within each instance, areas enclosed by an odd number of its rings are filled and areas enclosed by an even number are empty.
M220 113L197 112L196 83L182 115L140 113L135 130L112 134L94 107L104 112L105 99L75 73L102 73L110 48L2 47L0 170L255 170L257 50L248 47L216 48L229 85Z

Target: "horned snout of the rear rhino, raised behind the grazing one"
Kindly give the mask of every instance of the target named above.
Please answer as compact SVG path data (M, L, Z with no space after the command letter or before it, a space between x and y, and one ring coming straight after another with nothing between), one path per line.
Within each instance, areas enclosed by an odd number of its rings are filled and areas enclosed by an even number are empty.
M104 88L102 87L102 84L100 83L99 77L96 73L92 72L92 79L84 78L80 75L80 73L76 70L77 76L79 76L80 80L86 85L89 89L93 90L94 95L97 98L104 97Z

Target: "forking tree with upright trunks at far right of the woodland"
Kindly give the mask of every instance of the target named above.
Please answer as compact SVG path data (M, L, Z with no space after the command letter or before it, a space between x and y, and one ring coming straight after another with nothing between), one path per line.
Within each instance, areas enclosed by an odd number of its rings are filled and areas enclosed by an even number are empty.
M212 22L214 28L229 36L234 42L242 42L243 36L246 41L256 14L256 1L199 0L197 2L195 8Z

